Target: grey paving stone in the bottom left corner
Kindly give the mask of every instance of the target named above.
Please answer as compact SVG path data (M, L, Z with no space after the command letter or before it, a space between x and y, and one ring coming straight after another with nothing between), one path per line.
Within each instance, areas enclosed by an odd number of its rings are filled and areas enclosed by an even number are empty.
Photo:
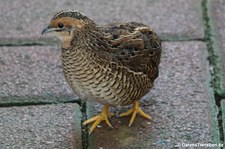
M79 149L77 104L0 108L1 149Z

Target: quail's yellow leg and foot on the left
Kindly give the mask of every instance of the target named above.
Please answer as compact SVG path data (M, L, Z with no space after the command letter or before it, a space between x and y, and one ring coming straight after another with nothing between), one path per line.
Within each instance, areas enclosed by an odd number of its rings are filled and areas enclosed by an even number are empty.
M89 123L94 122L94 124L91 126L89 130L89 134L91 134L94 131L94 129L98 126L98 124L100 124L104 120L106 121L106 124L109 127L113 128L113 126L110 124L108 120L108 116L113 116L113 115L114 115L113 113L109 112L109 106L105 105L102 109L102 112L99 115L86 120L85 122L83 122L83 125L87 125Z

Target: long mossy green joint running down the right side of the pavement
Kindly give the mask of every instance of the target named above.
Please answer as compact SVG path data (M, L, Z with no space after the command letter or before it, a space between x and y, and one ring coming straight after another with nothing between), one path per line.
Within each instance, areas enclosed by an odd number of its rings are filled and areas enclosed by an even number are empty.
M211 80L210 85L214 90L214 100L217 108L219 109L217 113L217 125L219 127L219 142L217 143L223 143L224 142L224 133L223 133L223 126L222 126L222 112L221 112L221 98L218 95L218 91L221 90L221 67L220 65L220 59L218 55L218 51L216 48L215 43L215 37L213 36L213 25L210 23L210 7L209 7L209 0L202 0L202 16L203 16L203 22L204 22L204 39L207 46L208 51L208 62L210 65L209 72L211 74ZM215 130L216 131L216 130ZM214 136L216 137L216 136Z

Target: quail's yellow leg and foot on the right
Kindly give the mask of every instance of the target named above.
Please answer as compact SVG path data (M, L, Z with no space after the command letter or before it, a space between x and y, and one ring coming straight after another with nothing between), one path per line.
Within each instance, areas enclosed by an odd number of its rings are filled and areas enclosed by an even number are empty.
M132 109L128 110L127 112L124 112L124 113L121 113L120 116L128 116L132 113L132 116L131 116L131 119L130 119L130 122L129 122L129 127L132 125L132 123L134 122L134 119L137 115L137 113L139 113L141 116L143 116L144 118L147 118L149 120L152 120L152 117L146 113L144 113L140 106L139 106L139 103L138 101L135 101L134 104L133 104L133 107Z

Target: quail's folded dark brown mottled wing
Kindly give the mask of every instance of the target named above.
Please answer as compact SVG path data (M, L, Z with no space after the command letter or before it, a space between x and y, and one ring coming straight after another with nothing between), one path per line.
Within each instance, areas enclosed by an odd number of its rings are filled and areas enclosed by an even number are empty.
M151 28L130 22L109 24L101 31L114 49L110 50L113 61L153 80L158 76L161 42Z

